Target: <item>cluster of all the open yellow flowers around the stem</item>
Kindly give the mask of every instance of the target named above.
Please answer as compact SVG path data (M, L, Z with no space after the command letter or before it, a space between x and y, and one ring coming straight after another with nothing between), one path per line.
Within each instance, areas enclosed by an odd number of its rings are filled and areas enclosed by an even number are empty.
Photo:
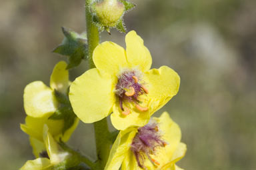
M96 6L99 14L101 5ZM180 169L175 163L185 155L186 145L179 126L167 112L151 117L179 91L179 75L167 66L151 69L151 54L135 31L127 33L125 43L126 49L111 41L97 45L95 68L72 83L61 61L50 87L41 81L25 87L27 117L21 129L30 136L37 159L21 170L57 169L72 157L58 143L69 139L78 120L95 123L108 115L119 134L105 170Z

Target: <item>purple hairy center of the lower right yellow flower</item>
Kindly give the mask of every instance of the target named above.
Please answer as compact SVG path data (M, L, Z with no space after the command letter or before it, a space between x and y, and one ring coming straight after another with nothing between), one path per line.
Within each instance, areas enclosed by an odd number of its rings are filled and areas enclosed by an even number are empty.
M143 164L145 158L148 158L155 167L160 165L150 155L156 154L157 147L165 147L166 145L167 143L161 139L158 124L151 120L147 125L138 129L138 133L135 135L133 143L131 143L131 151L133 151L139 167L146 169Z

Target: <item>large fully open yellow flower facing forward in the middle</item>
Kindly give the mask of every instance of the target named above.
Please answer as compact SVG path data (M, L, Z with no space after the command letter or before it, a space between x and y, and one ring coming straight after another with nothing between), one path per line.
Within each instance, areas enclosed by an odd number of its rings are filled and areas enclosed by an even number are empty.
M71 84L69 98L77 117L93 123L107 117L116 129L143 126L179 90L179 75L167 66L150 69L152 59L135 31L125 37L126 51L106 41L93 51L96 68Z

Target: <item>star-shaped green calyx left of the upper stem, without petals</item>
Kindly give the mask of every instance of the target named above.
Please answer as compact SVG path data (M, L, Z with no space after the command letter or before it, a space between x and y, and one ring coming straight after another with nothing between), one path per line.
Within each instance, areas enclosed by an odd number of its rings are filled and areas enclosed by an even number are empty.
M61 29L65 37L62 43L53 49L53 53L68 56L67 69L71 69L79 65L82 59L87 59L87 36L85 33L79 34L65 27L61 27Z

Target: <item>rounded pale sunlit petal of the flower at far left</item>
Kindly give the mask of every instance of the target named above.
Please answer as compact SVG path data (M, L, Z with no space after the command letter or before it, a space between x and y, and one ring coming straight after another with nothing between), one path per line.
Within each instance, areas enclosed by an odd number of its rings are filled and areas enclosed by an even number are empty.
M42 81L34 81L24 89L24 108L31 117L43 117L54 113L57 101L53 91Z

